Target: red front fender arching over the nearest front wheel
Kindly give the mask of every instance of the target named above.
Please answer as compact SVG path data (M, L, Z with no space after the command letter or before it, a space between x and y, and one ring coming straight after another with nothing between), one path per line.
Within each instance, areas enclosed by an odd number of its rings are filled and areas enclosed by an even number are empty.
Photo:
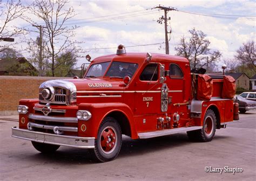
M131 137L138 138L132 110L125 103L80 103L78 105L78 110L88 110L92 114L91 119L88 121L78 120L78 136L97 138L98 129L104 117L117 111L123 113L127 117L131 129ZM86 126L85 131L80 129L82 124L85 124Z

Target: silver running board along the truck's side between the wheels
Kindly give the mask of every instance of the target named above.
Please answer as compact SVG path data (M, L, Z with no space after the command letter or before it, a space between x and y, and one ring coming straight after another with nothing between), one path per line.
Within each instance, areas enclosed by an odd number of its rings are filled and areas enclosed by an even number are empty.
M164 129L164 130L152 131L147 133L139 133L138 136L140 139L146 139L146 138L152 138L152 137L158 137L158 136L172 135L176 133L183 133L186 131L193 131L193 130L198 130L202 128L203 127L201 126L193 126L193 127Z

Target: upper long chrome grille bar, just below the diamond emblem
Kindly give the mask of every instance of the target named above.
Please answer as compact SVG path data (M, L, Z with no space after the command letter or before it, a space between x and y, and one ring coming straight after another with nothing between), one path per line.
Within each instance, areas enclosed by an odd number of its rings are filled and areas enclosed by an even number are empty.
M64 123L77 123L76 117L56 117L56 116L43 116L30 113L29 119L39 121L51 121L51 122L64 122Z

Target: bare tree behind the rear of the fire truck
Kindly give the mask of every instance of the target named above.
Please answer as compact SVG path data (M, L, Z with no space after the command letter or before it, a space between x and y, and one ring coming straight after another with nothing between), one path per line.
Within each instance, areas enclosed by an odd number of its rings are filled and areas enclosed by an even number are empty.
M203 31L193 28L188 32L191 34L189 40L187 41L183 36L175 50L177 55L183 56L190 61L191 68L201 68L205 65L209 67L210 64L219 60L221 53L219 51L211 51L208 48L211 42L206 39L206 34Z

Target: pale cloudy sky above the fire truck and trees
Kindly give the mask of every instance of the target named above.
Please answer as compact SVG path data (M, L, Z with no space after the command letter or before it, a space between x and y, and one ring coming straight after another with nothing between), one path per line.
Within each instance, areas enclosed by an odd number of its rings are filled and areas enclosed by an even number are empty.
M0 1L1 2L1 1ZM5 3L3 0L2 3ZM32 1L22 0L29 5ZM92 59L116 53L119 44L126 46L126 52L165 53L164 23L157 20L164 15L158 5L170 6L178 11L169 11L168 24L170 54L176 54L174 47L182 36L190 36L188 30L201 30L211 41L210 48L219 50L223 59L232 59L235 51L248 40L256 40L256 2L255 1L72 1L65 9L73 7L77 15L66 26L77 25L73 39L83 41L79 44ZM0 17L0 23L2 17ZM39 23L39 22L38 22ZM14 20L10 25L27 26L24 20ZM8 27L11 30L11 26ZM32 26L30 27L33 28ZM26 38L35 39L37 33L27 34ZM24 57L24 37L15 39L15 46ZM152 45L154 44L154 45ZM132 46L132 47L129 47ZM103 49L100 49L103 48ZM79 59L76 67L84 62ZM219 64L220 65L220 64Z

